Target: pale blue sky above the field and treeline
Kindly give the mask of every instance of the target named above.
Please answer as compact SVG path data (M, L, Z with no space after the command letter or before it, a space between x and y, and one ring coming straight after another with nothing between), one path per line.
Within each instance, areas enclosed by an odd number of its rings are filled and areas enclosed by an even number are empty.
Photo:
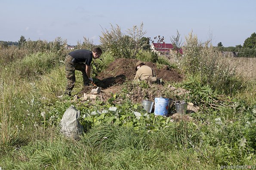
M146 37L185 36L193 30L202 42L243 45L256 32L256 0L0 0L0 41L83 37L98 45L102 31L119 25L121 31L142 22ZM103 28L103 30L102 30Z

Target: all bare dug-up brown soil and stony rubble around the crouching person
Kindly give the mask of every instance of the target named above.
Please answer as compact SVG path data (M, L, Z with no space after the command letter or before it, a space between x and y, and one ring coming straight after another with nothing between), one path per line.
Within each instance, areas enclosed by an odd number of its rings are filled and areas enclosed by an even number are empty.
M135 77L135 64L138 62L136 59L117 59L112 62L107 69L101 72L96 78L98 81L95 84L101 87L101 92L97 94L97 97L101 101L108 101L111 97L111 94L119 93L122 89L122 84L125 81L133 81ZM162 78L164 82L180 82L182 81L182 75L180 75L175 69L170 69L168 66L163 67L162 69L157 69L155 63L145 62L146 66L154 69L155 74L158 78ZM86 86L84 87L83 93L90 93L92 89L95 89L97 86ZM173 86L162 86L159 84L151 84L148 89L143 89L140 86L136 86L135 84L127 84L126 90L129 91L126 94L127 98L130 98L131 101L135 103L141 103L142 100L150 100L154 101L155 97L165 97L172 98L173 101L178 100L176 96L185 95L189 93L187 90L182 88L175 88ZM122 98L117 98L114 102L116 104L122 103ZM193 105L188 106L187 112L192 113L196 112L198 107ZM174 112L172 111L172 114ZM185 117L184 117L185 116ZM182 118L177 116L177 114L173 115L173 119L179 121L182 120L190 120L191 117L184 115Z

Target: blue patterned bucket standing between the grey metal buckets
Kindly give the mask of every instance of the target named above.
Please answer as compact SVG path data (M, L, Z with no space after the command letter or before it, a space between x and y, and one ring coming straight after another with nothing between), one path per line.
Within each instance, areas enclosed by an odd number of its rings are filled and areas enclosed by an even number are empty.
M169 98L154 98L154 115L167 116Z

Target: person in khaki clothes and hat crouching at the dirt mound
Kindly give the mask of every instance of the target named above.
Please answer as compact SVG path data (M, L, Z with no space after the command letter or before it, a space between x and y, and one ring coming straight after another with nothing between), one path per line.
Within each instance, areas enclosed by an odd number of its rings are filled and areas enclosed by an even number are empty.
M154 70L146 66L142 61L138 61L135 66L136 75L133 81L147 81L149 84L157 83L157 76L154 75Z

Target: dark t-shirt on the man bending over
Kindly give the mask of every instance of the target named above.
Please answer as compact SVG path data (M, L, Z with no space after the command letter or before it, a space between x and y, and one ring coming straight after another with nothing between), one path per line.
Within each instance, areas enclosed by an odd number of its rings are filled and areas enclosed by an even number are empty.
M75 50L68 55L73 57L76 63L85 63L87 66L90 66L93 60L93 52L89 50Z

